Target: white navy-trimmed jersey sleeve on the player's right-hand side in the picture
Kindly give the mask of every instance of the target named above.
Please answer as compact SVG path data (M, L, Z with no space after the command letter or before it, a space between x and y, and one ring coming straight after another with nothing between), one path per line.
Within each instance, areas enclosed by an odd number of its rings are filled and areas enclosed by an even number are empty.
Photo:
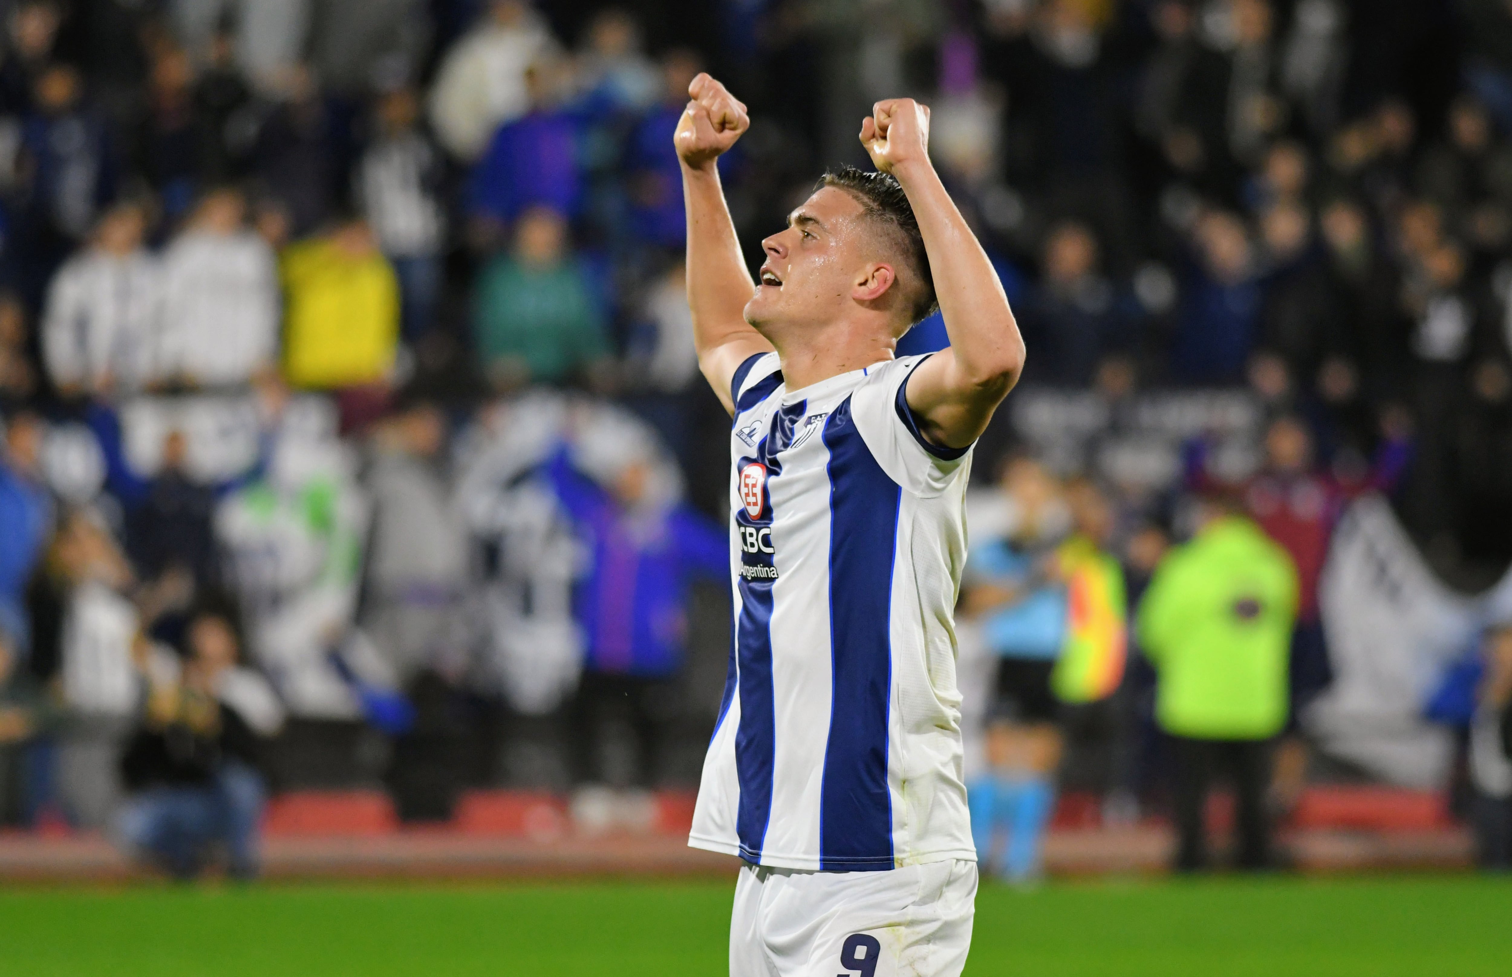
M971 472L975 445L943 448L919 433L909 408L909 377L930 354L903 357L872 368L851 396L851 414L866 448L888 476L904 490L931 498Z

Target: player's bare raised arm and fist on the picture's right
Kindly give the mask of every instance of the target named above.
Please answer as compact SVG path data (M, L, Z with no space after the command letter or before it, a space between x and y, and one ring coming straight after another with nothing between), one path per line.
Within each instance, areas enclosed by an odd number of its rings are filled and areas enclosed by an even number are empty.
M987 253L930 163L928 135L930 110L912 98L878 101L860 127L877 169L909 195L950 336L950 348L909 380L909 407L931 443L966 448L1018 383L1024 337Z

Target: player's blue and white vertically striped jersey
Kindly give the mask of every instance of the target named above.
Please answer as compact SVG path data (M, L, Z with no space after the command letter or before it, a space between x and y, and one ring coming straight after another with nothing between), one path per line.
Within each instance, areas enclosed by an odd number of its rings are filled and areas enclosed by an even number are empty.
M779 868L977 858L954 608L971 451L925 442L925 357L788 390L735 374L735 629L689 844Z

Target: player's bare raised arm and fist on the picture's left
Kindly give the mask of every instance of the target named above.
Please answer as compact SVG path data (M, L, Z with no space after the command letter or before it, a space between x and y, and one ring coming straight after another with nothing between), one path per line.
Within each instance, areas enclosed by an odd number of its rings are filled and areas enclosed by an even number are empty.
M682 162L682 195L688 212L688 306L699 369L735 413L730 381L741 363L773 346L745 322L745 302L756 292L735 222L720 186L718 157L750 129L745 106L723 85L700 74L688 86L688 110L673 136Z

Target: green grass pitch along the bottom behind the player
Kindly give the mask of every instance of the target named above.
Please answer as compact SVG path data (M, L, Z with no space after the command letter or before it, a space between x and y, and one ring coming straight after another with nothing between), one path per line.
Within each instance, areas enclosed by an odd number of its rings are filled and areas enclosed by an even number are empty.
M0 892L0 974L724 974L730 885ZM1512 880L984 886L974 977L1507 977Z

